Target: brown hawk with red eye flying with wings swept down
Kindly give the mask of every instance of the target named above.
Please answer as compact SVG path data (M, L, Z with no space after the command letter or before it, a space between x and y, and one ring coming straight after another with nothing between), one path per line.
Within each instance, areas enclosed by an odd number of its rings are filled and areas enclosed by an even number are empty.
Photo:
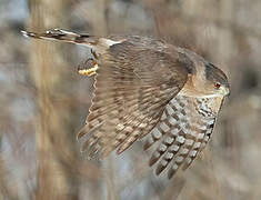
M59 29L22 33L91 48L93 58L87 64L92 68L79 72L96 74L94 97L78 134L90 157L121 153L150 133L144 149L158 142L150 166L157 164L157 174L168 168L171 178L208 143L229 82L197 53L140 36L96 37Z

